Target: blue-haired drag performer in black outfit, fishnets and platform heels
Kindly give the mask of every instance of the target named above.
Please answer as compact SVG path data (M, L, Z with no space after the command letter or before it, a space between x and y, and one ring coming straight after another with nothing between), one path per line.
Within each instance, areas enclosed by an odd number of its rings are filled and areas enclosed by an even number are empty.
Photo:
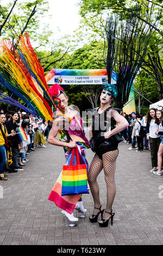
M92 115L94 115L94 117L92 118L93 122L90 129L90 137L92 138L93 144L95 144L96 154L91 162L88 175L88 181L95 204L95 209L93 215L90 216L90 221L97 222L98 215L101 214L102 220L99 221L101 227L107 227L110 218L112 224L114 217L114 213L112 212L112 203L116 193L114 174L116 158L118 156L118 142L120 142L116 136L118 132L123 131L128 126L128 121L120 115L121 109L112 108L110 105L116 95L116 86L114 84L106 84L103 87L100 97L101 107L92 109ZM116 123L118 123L117 126ZM104 169L107 187L105 211L100 203L99 187L97 184L97 176L102 169Z

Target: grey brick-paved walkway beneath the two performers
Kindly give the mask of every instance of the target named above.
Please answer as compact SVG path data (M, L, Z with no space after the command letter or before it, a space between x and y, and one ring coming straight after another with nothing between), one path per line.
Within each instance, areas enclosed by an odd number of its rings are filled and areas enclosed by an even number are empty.
M119 149L112 226L109 223L108 228L101 228L90 223L91 194L83 195L86 218L75 228L63 225L61 210L47 198L64 164L64 151L48 144L30 154L24 171L10 173L8 181L0 181L4 190L0 198L0 245L162 245L163 176L149 172L149 151L128 151L125 143ZM87 150L89 163L92 157L92 151ZM103 172L98 182L105 207Z

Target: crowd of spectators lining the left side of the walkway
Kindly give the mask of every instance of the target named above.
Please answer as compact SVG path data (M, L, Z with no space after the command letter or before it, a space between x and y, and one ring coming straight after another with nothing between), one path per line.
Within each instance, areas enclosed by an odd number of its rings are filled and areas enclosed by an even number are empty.
M9 173L22 171L29 154L37 147L46 148L51 123L26 112L0 112L0 180ZM21 130L20 130L21 128Z

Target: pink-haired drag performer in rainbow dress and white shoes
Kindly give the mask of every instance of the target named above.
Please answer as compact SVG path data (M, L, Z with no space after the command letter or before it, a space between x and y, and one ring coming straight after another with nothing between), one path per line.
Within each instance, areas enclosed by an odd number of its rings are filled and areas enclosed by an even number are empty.
M51 94L54 104L57 107L56 116L53 120L52 129L49 132L48 143L64 147L66 165L70 164L72 148L80 149L80 158L83 159L88 170L88 163L85 159L84 150L89 148L89 141L85 137L83 120L80 117L79 109L76 106L68 106L68 97L59 84L54 84L48 90ZM59 135L59 139L56 136ZM62 140L65 141L62 141ZM76 164L73 159L73 164ZM73 216L74 208L85 214L86 209L83 207L81 195L61 196L62 173L59 175L57 182L49 195L49 200L53 201L69 221L77 222L78 218Z

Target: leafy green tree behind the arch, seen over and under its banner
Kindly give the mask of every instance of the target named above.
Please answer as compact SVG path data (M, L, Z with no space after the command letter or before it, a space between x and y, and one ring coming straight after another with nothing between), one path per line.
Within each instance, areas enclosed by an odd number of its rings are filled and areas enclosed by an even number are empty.
M85 44L83 47L74 51L71 55L67 55L67 58L58 63L55 67L61 69L105 69L103 48L103 42L100 41L93 41L89 45ZM89 100L90 106L87 108L94 108L98 106L101 86L95 84L87 86L73 85L70 88L73 88L74 90L77 88L77 90L80 90L80 95L85 96L87 100ZM71 96L74 97L73 95ZM78 97L76 99L78 99ZM84 109L85 108L86 107L84 106Z

